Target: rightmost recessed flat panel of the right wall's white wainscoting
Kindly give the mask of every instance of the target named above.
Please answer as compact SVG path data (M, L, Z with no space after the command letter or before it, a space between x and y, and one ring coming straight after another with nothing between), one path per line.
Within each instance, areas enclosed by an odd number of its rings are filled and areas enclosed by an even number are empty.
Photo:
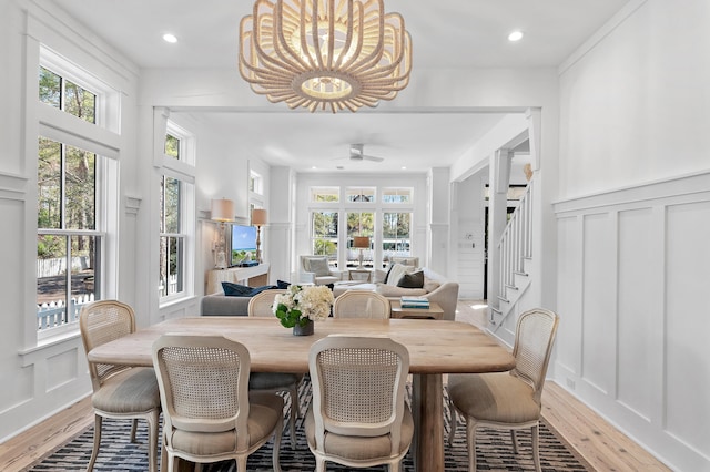
M710 456L710 202L667 212L666 429Z

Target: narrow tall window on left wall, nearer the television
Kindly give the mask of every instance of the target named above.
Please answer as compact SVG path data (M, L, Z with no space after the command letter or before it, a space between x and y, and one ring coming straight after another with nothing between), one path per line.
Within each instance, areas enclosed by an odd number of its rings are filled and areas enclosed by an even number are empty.
M161 301L170 301L187 295L190 228L194 199L192 176L194 173L192 148L186 131L169 122L165 134L163 175L160 182L160 270L159 296ZM175 172L178 171L178 172Z

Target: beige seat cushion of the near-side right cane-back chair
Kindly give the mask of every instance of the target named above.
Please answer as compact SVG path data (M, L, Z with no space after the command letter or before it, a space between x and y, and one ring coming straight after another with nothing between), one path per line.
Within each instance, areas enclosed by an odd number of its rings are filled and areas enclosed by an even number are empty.
M304 429L308 447L316 448L315 443L315 418L313 410L308 409L306 414ZM402 434L399 438L399 453L405 452L412 443L414 435L414 420L408 408L404 409L402 419ZM392 452L389 434L377 435L373 438L342 435L331 432L325 434L325 451L328 455L335 455L351 461L368 461L378 458L388 458Z

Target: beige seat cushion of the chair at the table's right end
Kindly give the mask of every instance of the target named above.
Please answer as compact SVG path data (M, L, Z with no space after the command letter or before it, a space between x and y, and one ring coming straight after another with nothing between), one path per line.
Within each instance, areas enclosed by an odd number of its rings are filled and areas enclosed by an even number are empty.
M532 387L508 372L450 374L448 394L459 411L479 421L523 423L540 417Z

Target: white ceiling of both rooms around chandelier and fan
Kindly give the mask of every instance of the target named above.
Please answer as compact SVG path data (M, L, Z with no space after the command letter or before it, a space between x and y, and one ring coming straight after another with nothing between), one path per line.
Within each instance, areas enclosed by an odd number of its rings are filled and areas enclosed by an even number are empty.
M239 22L251 0L51 0L141 68L236 70ZM628 0L385 0L413 39L414 68L556 66ZM507 35L519 29L520 42ZM168 44L162 34L179 39ZM406 91L405 91L406 92ZM404 93L404 92L403 92ZM396 99L395 99L396 100ZM266 102L266 99L264 99ZM446 166L504 115L498 113L201 113L270 164L300 172L423 172ZM277 131L274 131L277 130ZM351 143L382 163L351 162ZM342 157L338 161L334 161ZM344 157L344 158L343 158Z

